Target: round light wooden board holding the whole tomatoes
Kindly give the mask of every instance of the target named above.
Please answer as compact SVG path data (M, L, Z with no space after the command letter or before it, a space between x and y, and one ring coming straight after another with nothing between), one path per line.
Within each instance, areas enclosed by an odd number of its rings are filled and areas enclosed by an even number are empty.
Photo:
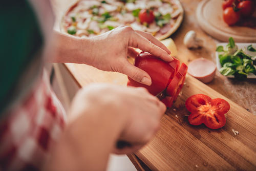
M198 24L212 37L228 41L233 37L236 42L256 42L256 29L241 26L228 26L222 17L222 0L204 0L196 11Z

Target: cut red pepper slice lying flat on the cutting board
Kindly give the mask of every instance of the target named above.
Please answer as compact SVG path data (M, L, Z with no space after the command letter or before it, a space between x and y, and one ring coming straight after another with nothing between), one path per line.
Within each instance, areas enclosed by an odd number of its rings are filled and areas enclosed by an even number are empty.
M203 94L190 96L186 100L186 108L191 114L188 121L192 125L204 123L210 129L219 129L226 124L225 113L230 109L226 100L211 99Z

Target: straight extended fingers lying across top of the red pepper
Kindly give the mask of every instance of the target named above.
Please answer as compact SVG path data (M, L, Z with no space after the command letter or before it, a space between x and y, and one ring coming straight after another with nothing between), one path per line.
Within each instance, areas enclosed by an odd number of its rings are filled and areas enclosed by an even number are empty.
M156 46L153 44L150 40L146 39L142 35L132 32L132 35L129 39L128 46L139 48L142 51L146 51L151 53L152 55L158 56L159 58L165 60L165 61L172 61L173 57L168 55L166 51L164 51L162 48Z

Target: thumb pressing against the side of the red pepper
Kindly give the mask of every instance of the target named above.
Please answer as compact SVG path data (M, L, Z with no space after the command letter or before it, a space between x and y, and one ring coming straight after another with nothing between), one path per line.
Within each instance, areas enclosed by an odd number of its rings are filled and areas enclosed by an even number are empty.
M135 67L129 61L125 62L121 73L129 76L137 82L146 84L147 86L150 86L152 83L150 75L148 75L145 71L139 69L138 67Z

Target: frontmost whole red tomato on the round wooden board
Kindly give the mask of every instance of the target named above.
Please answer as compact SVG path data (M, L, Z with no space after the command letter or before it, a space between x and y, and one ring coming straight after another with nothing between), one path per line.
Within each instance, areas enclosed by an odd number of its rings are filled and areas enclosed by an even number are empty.
M236 24L239 21L240 13L234 12L232 7L228 7L223 11L223 19L229 26Z

